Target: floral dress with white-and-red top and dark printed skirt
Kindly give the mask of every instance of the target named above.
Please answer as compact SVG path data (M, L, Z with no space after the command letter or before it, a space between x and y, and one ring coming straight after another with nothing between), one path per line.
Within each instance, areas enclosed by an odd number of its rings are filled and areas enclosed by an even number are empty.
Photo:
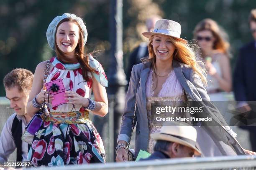
M63 64L57 57L52 57L50 61L54 67L50 70L46 82L61 78L66 90L75 91L87 98L91 96L92 75L102 86L108 86L102 66L92 56L89 57L89 64L96 70L88 72L90 81L83 79L79 63ZM48 110L55 118L59 118L58 120L69 118L69 114L82 115L87 112L82 105L67 103L56 107L48 105ZM100 135L90 120L82 124L44 121L34 135L28 161L34 167L105 163L105 150Z

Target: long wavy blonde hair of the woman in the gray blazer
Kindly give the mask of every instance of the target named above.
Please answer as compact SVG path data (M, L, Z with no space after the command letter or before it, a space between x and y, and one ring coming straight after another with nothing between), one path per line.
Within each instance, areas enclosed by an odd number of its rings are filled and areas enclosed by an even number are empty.
M156 54L154 52L153 45L151 45L153 38L154 38L154 35L149 38L149 43L148 43L149 56L148 58L143 59L142 62L151 62L152 67L155 70ZM176 48L173 54L173 59L191 67L195 71L195 73L200 76L204 85L207 85L204 63L202 61L196 60L196 55L193 50L197 47L197 45L185 44L184 42L181 42L180 40L177 40L176 38L171 36L169 36L169 38Z

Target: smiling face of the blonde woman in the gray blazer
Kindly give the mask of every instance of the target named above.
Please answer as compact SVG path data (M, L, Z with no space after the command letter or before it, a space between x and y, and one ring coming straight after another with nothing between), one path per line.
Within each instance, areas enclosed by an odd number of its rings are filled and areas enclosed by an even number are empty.
M172 61L175 46L169 36L154 35L151 45L153 46L156 55L156 61Z

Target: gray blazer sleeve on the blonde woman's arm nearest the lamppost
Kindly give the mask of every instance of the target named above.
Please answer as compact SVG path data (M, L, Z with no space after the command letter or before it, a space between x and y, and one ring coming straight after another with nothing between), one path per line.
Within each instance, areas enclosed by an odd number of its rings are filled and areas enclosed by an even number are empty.
M133 66L132 72L131 72L131 78L130 78L129 87L128 87L128 91L125 99L126 101L125 109L122 116L122 124L120 127L120 133L118 135L118 141L124 140L127 143L130 141L130 137L131 137L131 129L132 129L134 108L135 108L135 102L136 102L137 82L136 82L136 73L135 73L134 67L135 66Z

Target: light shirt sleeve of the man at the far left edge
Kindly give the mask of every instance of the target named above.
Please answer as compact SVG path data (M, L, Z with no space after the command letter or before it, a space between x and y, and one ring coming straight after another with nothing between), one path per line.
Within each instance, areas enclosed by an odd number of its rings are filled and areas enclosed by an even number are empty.
M8 161L10 154L13 153L16 148L11 132L14 117L15 115L11 115L8 118L0 136L0 164Z

